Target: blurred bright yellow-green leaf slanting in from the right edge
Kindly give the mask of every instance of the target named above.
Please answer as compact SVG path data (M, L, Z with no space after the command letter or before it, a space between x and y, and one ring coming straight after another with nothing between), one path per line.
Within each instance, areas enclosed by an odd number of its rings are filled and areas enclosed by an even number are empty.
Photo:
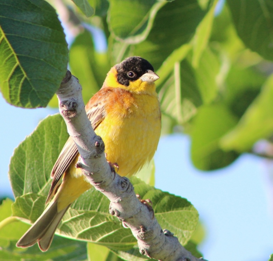
M273 132L273 75L268 77L261 93L245 111L239 123L221 139L221 148L249 151L254 143Z

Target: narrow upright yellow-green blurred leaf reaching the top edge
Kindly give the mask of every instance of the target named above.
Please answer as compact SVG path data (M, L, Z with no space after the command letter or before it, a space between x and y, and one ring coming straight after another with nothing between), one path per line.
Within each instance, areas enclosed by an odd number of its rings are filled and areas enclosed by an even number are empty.
M214 20L214 11L216 4L218 3L217 0L213 1L213 4L205 15L201 23L199 23L198 27L196 28L196 33L193 38L193 55L192 55L192 66L194 68L199 67L200 58L202 56L203 51L206 49L208 45L208 41L210 38L212 24Z

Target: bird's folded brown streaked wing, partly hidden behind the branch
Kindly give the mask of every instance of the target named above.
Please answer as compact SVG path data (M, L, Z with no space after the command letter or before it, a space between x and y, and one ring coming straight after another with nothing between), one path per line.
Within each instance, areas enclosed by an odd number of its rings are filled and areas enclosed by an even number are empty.
M101 99L101 95L103 94L104 91L103 92L99 91L89 100L88 104L85 106L88 119L90 120L92 128L94 130L103 121L106 115L105 106L103 103L105 99ZM52 177L53 180L51 182L51 187L48 193L48 197L46 199L46 204L57 192L57 188L61 182L61 177L63 173L68 169L68 167L70 166L71 162L74 160L77 154L78 148L74 143L72 137L69 137L67 142L63 146L63 149L61 150L61 153L59 154L57 161L55 162L52 168L50 177Z

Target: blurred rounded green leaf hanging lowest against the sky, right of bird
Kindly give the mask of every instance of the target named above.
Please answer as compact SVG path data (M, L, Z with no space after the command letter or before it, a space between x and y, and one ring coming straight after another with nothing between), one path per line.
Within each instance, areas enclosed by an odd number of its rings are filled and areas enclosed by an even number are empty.
M199 108L194 118L191 144L192 162L196 168L213 170L233 162L238 154L224 152L220 140L237 123L237 119L224 104L213 104Z

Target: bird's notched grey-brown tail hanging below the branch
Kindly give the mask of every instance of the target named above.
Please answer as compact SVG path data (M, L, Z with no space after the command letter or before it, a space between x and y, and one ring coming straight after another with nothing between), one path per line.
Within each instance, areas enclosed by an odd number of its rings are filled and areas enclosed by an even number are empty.
M50 204L43 214L35 221L28 231L18 240L17 247L30 247L38 242L41 251L47 251L50 247L54 233L65 214L66 208L58 212L57 200Z

